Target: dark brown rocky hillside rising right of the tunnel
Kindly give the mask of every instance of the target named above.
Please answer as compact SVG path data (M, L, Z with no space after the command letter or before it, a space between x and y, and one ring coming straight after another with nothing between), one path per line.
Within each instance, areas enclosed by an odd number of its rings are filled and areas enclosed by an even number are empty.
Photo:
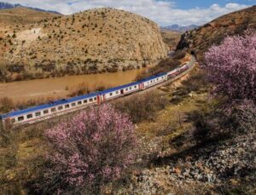
M226 35L240 34L248 27L256 28L256 6L226 14L205 26L183 33L177 49L193 50L198 60L203 60L203 54L212 44L221 43Z

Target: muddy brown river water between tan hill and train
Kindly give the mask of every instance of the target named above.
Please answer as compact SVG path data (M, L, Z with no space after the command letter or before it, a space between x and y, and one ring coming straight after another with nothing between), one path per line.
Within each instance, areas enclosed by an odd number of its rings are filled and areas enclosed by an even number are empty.
M95 75L79 75L0 83L0 98L8 97L18 101L38 100L39 98L64 98L78 86L85 85L89 89L97 86L106 88L131 83L139 72L145 68L126 72L102 73Z

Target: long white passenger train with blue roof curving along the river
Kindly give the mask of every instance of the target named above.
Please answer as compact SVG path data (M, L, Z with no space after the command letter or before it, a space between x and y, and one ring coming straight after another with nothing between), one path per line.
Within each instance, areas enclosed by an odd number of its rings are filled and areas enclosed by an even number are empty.
M70 99L50 101L48 104L41 106L33 106L24 110L13 111L0 115L0 129L1 127L4 128L10 125L19 126L22 124L40 122L48 118L54 118L68 112L83 109L89 105L100 105L108 100L119 98L124 95L131 95L138 91L151 88L159 83L164 83L168 79L179 76L182 72L189 69L189 63L184 64L171 72L160 73L134 83L128 83L89 95L80 95ZM191 63L191 65L193 65L193 63Z

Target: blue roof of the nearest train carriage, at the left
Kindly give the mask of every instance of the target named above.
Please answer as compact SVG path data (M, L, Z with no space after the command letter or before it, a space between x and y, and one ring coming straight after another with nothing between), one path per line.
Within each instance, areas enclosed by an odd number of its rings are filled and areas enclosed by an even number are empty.
M62 104L71 103L73 101L83 100L83 99L86 99L86 98L94 97L98 94L99 93L92 93L92 94L89 94L89 95L79 95L77 97L73 97L73 98L70 98L70 99L49 101L48 104L44 104L44 105L40 105L40 106L32 106L32 107L29 107L29 108L26 108L26 109L23 109L23 110L9 112L9 113L3 114L1 116L2 116L2 118L20 116L20 115L25 114L25 113L37 112L37 111L41 111L41 110L44 110L44 109L47 109L47 108L50 108L50 107L59 106L59 105L62 105Z

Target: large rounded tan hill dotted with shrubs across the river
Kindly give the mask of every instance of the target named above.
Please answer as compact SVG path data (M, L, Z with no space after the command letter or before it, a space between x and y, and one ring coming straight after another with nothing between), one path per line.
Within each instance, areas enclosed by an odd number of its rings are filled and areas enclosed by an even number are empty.
M15 27L1 45L5 80L116 72L154 64L167 54L159 26L117 9L90 9Z

